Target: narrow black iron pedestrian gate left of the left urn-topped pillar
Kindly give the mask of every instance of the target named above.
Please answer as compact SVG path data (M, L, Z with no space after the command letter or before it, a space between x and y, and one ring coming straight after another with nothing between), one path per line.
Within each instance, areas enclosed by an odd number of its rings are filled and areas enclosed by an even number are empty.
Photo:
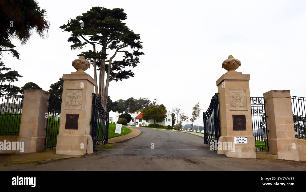
M56 148L61 115L62 98L50 97L47 115L45 148Z

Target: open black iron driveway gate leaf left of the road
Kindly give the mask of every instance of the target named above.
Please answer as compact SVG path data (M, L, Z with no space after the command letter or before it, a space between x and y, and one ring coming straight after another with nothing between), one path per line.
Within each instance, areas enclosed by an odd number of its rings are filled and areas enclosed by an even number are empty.
M97 145L108 144L108 122L109 113L103 109L100 98L94 93L91 117L91 137L94 148Z

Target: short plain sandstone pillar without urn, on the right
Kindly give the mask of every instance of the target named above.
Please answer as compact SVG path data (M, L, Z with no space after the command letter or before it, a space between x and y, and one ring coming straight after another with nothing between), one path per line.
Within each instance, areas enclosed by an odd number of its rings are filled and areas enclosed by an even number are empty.
M278 159L299 161L293 126L289 90L271 90L263 94L266 102L269 153Z

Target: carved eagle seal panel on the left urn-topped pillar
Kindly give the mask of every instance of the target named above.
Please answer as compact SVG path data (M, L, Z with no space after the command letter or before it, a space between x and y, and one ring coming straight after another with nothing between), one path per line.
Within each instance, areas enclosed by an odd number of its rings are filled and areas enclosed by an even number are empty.
M67 90L65 109L81 110L82 109L83 90Z

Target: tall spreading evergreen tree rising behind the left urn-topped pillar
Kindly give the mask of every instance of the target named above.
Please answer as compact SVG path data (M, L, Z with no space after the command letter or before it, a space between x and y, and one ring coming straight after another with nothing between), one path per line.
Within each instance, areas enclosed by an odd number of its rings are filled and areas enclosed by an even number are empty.
M139 56L144 55L139 34L135 34L122 21L127 16L123 9L106 9L92 7L86 13L68 21L60 28L71 32L68 41L73 42L71 49L80 49L91 45L92 49L82 52L94 67L95 92L100 96L103 108L106 109L109 83L128 79L134 76L126 67L136 67ZM116 55L122 59L114 60ZM99 71L99 84L97 79Z

